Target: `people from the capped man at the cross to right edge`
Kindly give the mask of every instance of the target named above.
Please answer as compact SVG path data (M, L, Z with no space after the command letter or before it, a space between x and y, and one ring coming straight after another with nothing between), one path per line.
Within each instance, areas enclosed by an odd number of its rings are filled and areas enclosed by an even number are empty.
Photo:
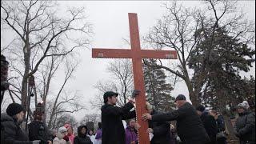
M128 122L125 130L122 120L135 118L134 99L139 90L134 90L132 99L125 106L115 106L118 94L108 91L104 94L102 106L102 143L136 144L138 143L138 123L134 119ZM161 114L146 103L147 113L142 119L149 123L150 144L226 144L227 130L224 117L217 110L206 110L205 106L194 108L186 97L179 94L175 99L177 110ZM238 105L238 120L234 125L236 136L241 144L255 143L254 103ZM246 120L245 120L246 119ZM176 129L170 121L176 121Z

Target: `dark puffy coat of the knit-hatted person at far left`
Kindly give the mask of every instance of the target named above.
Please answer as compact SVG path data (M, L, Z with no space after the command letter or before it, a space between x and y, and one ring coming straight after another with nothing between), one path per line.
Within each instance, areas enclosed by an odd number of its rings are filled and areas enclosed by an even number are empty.
M4 126L5 144L32 144L28 135L22 131L16 120L8 114L1 114L1 125Z

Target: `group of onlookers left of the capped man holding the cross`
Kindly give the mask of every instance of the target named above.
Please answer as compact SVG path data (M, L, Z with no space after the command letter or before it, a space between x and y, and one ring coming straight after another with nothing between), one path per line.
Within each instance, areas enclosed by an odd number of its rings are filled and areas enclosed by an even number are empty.
M1 114L1 142L4 144L101 144L102 124L98 123L98 130L89 130L86 125L78 126L78 134L74 134L73 127L66 124L57 130L50 130L44 124L43 114L34 111L34 121L28 125L28 134L21 129L24 119L24 109L18 103L11 103L6 113Z

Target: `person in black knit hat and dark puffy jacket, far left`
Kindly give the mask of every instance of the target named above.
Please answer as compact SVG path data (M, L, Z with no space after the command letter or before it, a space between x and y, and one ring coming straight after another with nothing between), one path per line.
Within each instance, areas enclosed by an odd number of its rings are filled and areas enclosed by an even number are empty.
M4 127L4 144L39 144L39 140L30 141L28 135L20 128L24 118L24 109L18 103L11 103L6 113L1 114Z

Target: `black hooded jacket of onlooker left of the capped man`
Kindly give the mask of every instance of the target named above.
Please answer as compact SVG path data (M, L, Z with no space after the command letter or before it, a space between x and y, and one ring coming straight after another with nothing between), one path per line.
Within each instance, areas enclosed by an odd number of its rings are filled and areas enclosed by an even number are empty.
M86 128L86 133L82 134L82 128ZM87 134L87 126L78 126L78 136L74 137L74 144L93 144Z

